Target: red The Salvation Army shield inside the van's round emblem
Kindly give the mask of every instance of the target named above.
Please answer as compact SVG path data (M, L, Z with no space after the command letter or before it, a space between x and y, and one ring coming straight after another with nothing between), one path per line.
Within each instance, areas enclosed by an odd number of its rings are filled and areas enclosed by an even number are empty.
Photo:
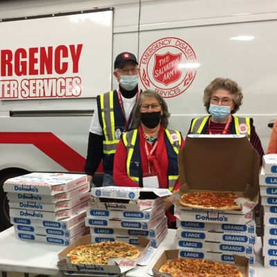
M180 62L181 53L172 54L167 52L163 55L155 54L153 78L166 86L179 80L181 77L181 70L178 68L178 64Z

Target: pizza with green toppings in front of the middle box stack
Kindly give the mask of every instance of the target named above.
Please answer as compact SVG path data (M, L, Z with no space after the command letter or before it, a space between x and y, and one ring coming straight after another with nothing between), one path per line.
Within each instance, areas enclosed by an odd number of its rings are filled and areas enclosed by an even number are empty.
M137 247L125 242L99 242L79 245L66 256L72 264L107 265L109 258L138 258L140 251Z

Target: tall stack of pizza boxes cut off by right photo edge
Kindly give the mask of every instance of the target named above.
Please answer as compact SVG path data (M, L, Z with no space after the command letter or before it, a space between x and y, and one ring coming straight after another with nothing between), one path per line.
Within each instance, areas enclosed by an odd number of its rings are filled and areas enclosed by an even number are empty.
M262 256L265 267L277 266L277 154L263 157L260 172Z

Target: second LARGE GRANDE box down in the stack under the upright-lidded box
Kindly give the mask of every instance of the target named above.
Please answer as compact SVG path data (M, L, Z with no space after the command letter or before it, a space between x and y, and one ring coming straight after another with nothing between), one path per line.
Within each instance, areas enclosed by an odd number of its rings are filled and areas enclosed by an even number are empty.
M241 233L200 231L191 229L177 229L176 238L180 240L202 240L209 242L239 242L245 244L255 244L256 235L242 235Z

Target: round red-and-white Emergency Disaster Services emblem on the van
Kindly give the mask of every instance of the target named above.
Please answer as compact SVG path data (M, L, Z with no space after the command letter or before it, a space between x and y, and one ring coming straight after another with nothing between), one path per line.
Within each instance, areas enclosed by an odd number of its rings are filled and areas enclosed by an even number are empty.
M175 97L193 84L198 66L195 51L187 42L164 37L152 42L141 56L141 82L163 98Z

